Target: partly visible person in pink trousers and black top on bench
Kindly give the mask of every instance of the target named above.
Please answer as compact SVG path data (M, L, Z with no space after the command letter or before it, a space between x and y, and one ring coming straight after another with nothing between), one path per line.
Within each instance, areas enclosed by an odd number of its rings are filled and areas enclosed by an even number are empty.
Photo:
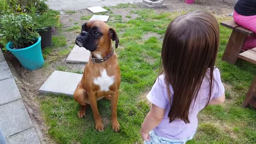
M234 7L234 21L256 34L256 0L238 0ZM256 47L256 35L247 37L242 51Z

